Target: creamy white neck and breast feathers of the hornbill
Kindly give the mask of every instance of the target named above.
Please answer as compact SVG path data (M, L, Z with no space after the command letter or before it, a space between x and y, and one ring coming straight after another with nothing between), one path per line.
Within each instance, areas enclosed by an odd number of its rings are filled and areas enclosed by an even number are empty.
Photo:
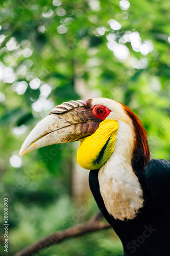
M115 219L133 219L142 207L142 189L132 169L133 126L119 121L114 151L99 170L99 185L107 211Z

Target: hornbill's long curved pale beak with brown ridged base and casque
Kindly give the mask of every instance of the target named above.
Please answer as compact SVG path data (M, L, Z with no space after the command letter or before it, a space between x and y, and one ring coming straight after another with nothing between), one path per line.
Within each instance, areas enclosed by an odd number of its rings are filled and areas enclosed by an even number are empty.
M77 141L93 134L100 120L86 101L69 101L56 106L51 114L41 120L23 142L19 155L40 147Z

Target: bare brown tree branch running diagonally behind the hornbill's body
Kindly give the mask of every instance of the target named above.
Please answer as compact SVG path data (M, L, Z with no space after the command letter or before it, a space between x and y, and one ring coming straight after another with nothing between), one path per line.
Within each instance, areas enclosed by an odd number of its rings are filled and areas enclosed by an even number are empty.
M54 244L58 244L67 238L74 238L81 236L82 234L95 232L98 230L106 229L111 227L109 223L104 223L102 221L102 214L98 212L94 217L92 217L89 221L84 224L77 225L75 227L67 228L62 231L58 231L56 233L51 234L50 236L43 238L37 243L19 251L14 256L31 256L34 253L48 248Z

